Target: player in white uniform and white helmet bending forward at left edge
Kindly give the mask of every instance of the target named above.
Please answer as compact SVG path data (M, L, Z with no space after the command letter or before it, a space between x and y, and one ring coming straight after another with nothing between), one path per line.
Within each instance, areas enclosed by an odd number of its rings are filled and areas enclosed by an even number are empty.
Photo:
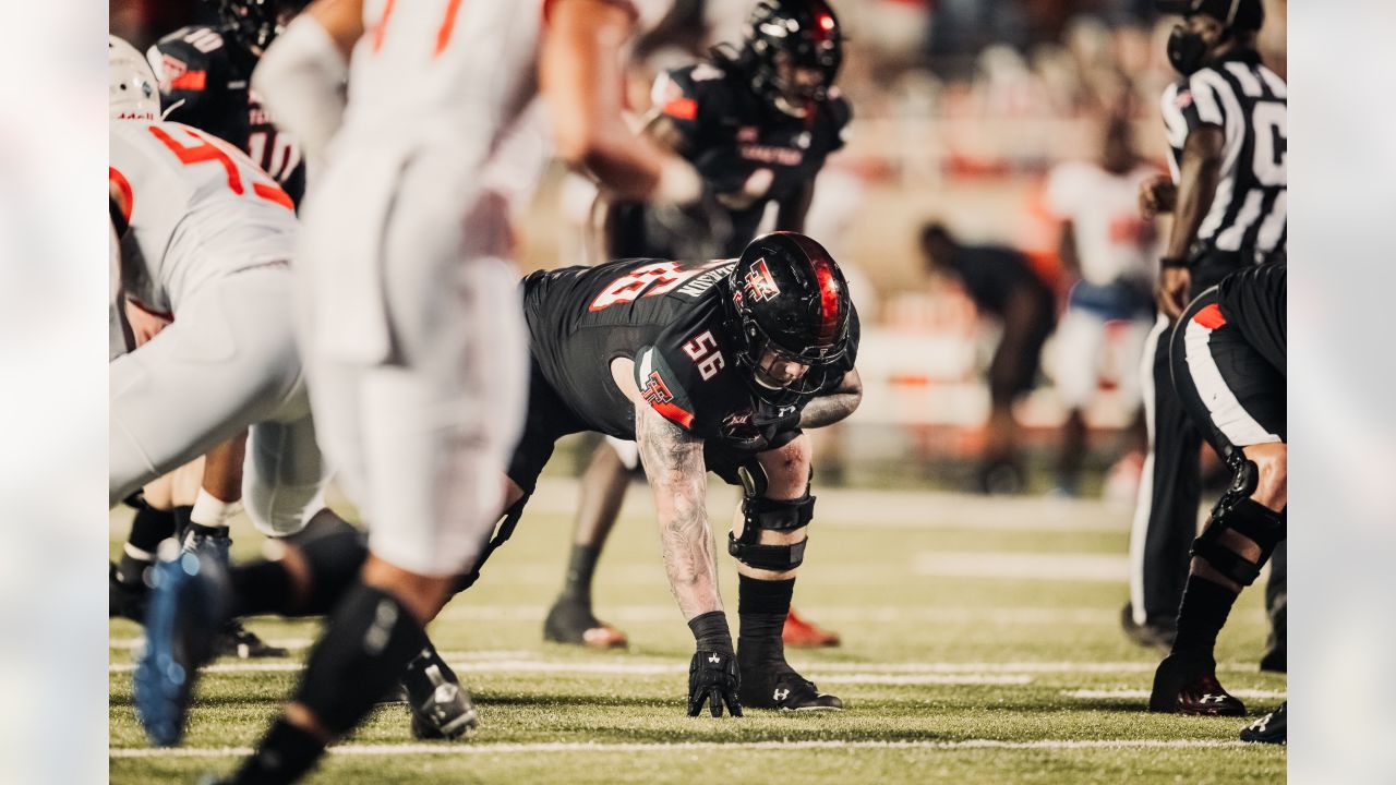
M186 541L191 552L156 564L135 705L152 740L173 744L193 686L184 662L209 658L215 644L207 636L180 638L176 627L195 624L216 636L233 616L325 613L332 595L299 588L306 584L304 563L314 562L307 555L352 550L362 535L324 503L329 469L315 441L293 330L289 260L297 223L290 198L230 144L191 126L159 122L149 66L114 36L107 50L112 310L116 314L126 298L172 318L134 351L124 345L116 351L113 338L113 353L120 356L110 363L109 503L246 429L247 515L286 546L281 562L229 573L232 603L193 580L202 564L222 574L226 528L191 527L194 536ZM233 476L242 458L239 451ZM187 641L195 645L188 648ZM417 652L443 682L454 682L430 644ZM456 732L436 726L443 712L473 721L461 690L413 679L408 687L420 735Z

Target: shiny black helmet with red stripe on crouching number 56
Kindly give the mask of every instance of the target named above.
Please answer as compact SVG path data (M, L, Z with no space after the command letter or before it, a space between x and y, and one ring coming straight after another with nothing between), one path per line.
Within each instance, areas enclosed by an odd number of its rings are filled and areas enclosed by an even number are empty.
M817 392L847 352L853 311L847 281L829 251L804 235L772 232L751 240L727 274L725 303L737 365L768 401ZM757 383L768 349L808 372L783 388Z

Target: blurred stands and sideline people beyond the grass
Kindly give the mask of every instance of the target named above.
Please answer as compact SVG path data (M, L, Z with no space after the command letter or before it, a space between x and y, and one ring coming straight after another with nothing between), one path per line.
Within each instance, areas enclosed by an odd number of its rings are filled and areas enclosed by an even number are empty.
M708 0L702 25L651 46L635 63L630 99L649 108L653 75L695 52L737 41L748 0ZM849 271L866 337L859 369L864 404L821 453L825 479L967 487L967 458L983 447L988 390L983 370L997 339L953 281L933 278L917 232L944 221L963 240L1022 250L1064 302L1071 284L1058 258L1060 226L1043 204L1047 173L1092 159L1104 120L1122 113L1138 149L1166 170L1157 101L1173 78L1164 56L1171 21L1150 0L845 0L847 35L839 88L854 109L849 145L821 173L807 230ZM1266 0L1262 54L1284 75L1286 3ZM112 0L112 32L138 47L194 21L214 21L194 0ZM706 29L705 36L695 31ZM522 176L528 176L524 173ZM560 168L544 173L519 217L521 272L586 260L579 242L592 191ZM1160 232L1166 228L1160 226ZM1124 451L1120 430L1134 404L1113 379L1138 359L1111 334L1099 394L1086 409L1092 450L1083 487L1100 487ZM1043 352L1041 384L1016 406L1027 448L1027 487L1053 486L1048 453L1065 416L1053 388L1055 352ZM1117 501L1134 482L1111 483Z

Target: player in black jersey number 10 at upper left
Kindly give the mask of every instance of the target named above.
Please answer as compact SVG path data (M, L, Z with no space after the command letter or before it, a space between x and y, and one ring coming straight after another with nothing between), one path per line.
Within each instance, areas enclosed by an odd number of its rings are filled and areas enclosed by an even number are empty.
M297 205L306 193L300 147L276 130L248 87L257 60L309 0L208 0L219 27L191 25L159 39L147 59L161 81L166 120L237 145Z

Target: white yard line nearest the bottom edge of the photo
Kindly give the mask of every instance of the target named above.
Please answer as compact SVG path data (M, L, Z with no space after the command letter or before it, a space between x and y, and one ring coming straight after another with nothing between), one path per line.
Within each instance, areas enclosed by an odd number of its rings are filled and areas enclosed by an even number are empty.
M1002 739L963 739L959 742L906 740L807 740L807 742L677 742L677 743L589 743L540 742L532 744L339 744L329 747L341 756L491 756L533 753L681 753L706 750L1131 750L1131 749L1217 749L1240 747L1244 742L1210 739L1039 739L1009 742ZM251 747L121 747L113 758L149 757L233 757L251 754Z

